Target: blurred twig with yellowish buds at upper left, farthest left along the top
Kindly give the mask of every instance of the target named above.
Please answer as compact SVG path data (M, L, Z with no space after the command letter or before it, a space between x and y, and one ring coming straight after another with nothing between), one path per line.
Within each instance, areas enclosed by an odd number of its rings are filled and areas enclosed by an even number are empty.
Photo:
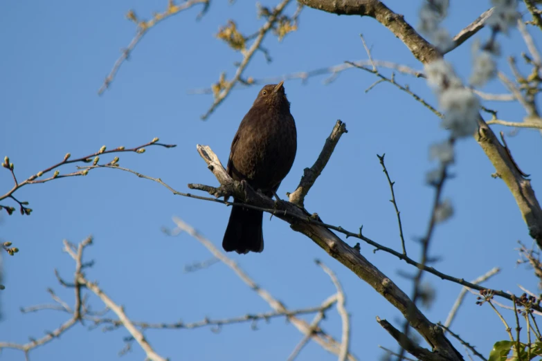
M126 17L128 20L133 21L137 25L136 30L136 36L132 41L130 41L130 44L123 49L123 53L120 55L120 57L115 62L113 68L109 72L109 75L105 78L102 86L98 90L98 95L102 95L107 89L109 89L109 85L111 85L111 82L113 82L116 73L118 72L118 69L120 66L125 62L125 60L128 60L129 56L132 55L132 51L136 47L136 45L139 43L139 41L143 38L145 34L147 34L147 31L150 30L150 28L156 26L161 21L168 19L169 17L172 17L173 15L177 15L183 10L187 10L189 8L192 8L192 6L195 6L197 4L202 4L204 6L203 10L198 15L198 18L204 15L206 12L208 6L209 6L210 0L186 0L180 5L175 5L173 0L168 0L168 8L165 9L163 12L156 12L152 16L152 19L150 20L139 20L136 17L136 14L134 10L129 10Z

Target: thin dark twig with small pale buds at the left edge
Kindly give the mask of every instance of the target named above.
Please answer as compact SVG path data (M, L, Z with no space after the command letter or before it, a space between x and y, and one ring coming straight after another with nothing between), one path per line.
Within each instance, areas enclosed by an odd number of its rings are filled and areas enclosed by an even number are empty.
M26 202L26 201L25 202L18 201L17 198L15 198L13 196L13 194L15 192L17 192L17 190L21 189L21 187L24 187L25 185L29 185L29 184L46 183L46 182L49 182L51 180L66 178L66 177L71 177L71 176L86 176L88 174L88 172L89 172L88 169L85 169L85 170L80 170L78 172L72 172L72 173L68 173L68 174L60 174L60 171L57 170L57 168L61 167L62 165L71 164L71 163L93 163L94 165L96 165L96 164L98 164L98 161L100 160L100 156L103 156L105 154L123 153L123 152L127 152L127 151L141 154L141 153L145 152L145 147L151 147L153 145L154 146L165 147L165 148L176 147L176 145L162 144L162 143L159 143L158 141L159 141L159 138L154 138L153 140L151 140L150 142L148 142L148 143L146 143L144 145L140 145L138 147L130 148L130 149L125 149L125 147L117 147L115 149L106 150L106 147L104 145L96 153L89 154L88 156L75 158L75 159L71 159L71 154L68 153L68 154L66 154L64 156L64 160L62 160L61 162L56 163L55 165L51 165L51 167L48 167L48 168L46 168L46 169L44 169L44 170L42 170L40 172L37 172L37 174L33 174L32 176L26 178L26 180L24 180L24 181L22 181L20 183L17 182L17 178L15 177L15 170L14 170L15 166L13 165L13 163L10 163L10 158L8 158L6 156L6 158L4 158L3 163L1 165L2 165L2 167L8 169L11 172L12 178L13 178L15 184L13 185L13 187L8 192L6 192L3 195L0 195L0 201L3 201L6 198L11 198L13 201L15 201L15 202L17 202L19 204L21 214L30 215L32 210L30 208L28 208L28 207L25 207L25 205L28 205L28 202ZM112 166L118 165L118 157L114 158L114 160L111 160L111 162L109 162L107 164L112 165ZM54 174L52 176L49 176L48 178L41 178L42 176L44 176L44 174L48 174L49 172L52 172L53 170L55 170L55 172L54 172ZM8 211L8 214L12 214L15 211L14 207L6 206L6 205L0 205L0 210L2 208L6 209L6 211Z

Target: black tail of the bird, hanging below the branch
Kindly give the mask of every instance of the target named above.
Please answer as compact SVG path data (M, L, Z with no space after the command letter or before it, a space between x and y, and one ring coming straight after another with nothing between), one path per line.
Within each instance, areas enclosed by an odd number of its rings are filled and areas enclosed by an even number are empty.
M239 200L234 198L233 201L238 202ZM226 228L224 240L222 240L222 248L226 252L235 250L239 254L262 252L264 250L263 218L262 211L233 206L228 228Z

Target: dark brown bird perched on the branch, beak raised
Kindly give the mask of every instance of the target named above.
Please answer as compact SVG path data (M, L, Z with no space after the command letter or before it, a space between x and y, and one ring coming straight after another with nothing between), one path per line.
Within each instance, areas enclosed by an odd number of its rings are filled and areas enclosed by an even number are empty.
M297 150L296 122L283 83L266 85L258 93L233 137L228 160L227 171L233 179L246 180L269 197L290 172ZM236 198L233 201L241 202ZM263 215L259 210L233 206L222 241L224 250L262 252Z

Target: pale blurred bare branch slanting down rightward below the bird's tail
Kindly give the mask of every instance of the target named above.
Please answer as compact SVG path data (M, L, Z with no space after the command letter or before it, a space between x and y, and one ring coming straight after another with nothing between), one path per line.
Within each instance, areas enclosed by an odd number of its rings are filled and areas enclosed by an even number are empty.
M264 299L264 301L267 302L269 304L269 306L271 306L271 308L273 308L274 311L282 312L282 313L284 313L284 312L287 313L288 312L286 306L284 306L284 304L282 304L282 302L280 302L278 299L275 299L271 295L271 293L269 293L267 290L265 290L261 286L258 286L255 283L255 281L253 281L253 279L251 279L249 277L249 275L247 275L237 265L237 263L235 263L235 261L233 261L233 259L226 256L226 254L224 254L224 252L221 252L220 250L218 250L215 247L215 245L213 245L213 242L206 239L203 235L201 235L199 232L197 232L197 230L192 228L190 225L188 225L187 223L185 223L181 219L179 219L177 217L174 217L173 221L177 225L177 228L179 230L187 232L188 234L190 234L191 237L193 237L194 239L197 239L197 241L199 241L199 243L201 243L203 246L205 246L205 248L207 248L207 250L209 252L211 252L211 254L213 254L214 257L217 257L217 259L222 261L222 263L226 264L226 266L231 268L231 270L233 270L233 272L235 272L237 277L239 277L247 286L249 286L252 290L254 290L255 293L258 293L258 295L260 297L262 297L262 299ZM336 297L330 297L329 299L327 299L326 302L332 302L332 300L334 300L334 302L335 302ZM336 340L334 340L334 338L332 336L327 335L327 333L325 333L320 328L318 328L318 330L317 330L318 332L316 332L311 328L311 326L309 324L307 324L307 322L305 322L304 320L301 320L300 318L295 317L295 316L289 316L289 317L287 317L287 319L289 320L289 322L291 324L293 324L293 326L296 326L296 328L301 333L303 333L305 335L311 335L312 339L317 344L319 344L323 349L325 349L326 351L328 351L330 353L334 353L335 355L339 355L341 353L341 344L339 342L337 342ZM351 354L348 354L347 359L350 360L350 361L356 360L354 355L351 355Z

